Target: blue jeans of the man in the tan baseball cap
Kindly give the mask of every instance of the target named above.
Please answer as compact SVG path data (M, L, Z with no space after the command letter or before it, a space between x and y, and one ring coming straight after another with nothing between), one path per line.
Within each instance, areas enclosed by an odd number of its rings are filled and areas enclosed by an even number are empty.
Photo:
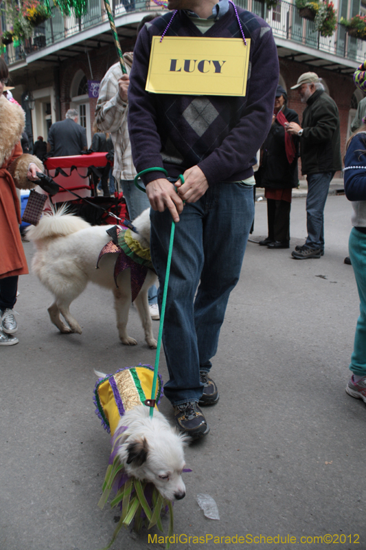
M310 248L324 250L324 207L333 176L334 172L306 176L308 180L308 196L306 197L308 238L306 245Z

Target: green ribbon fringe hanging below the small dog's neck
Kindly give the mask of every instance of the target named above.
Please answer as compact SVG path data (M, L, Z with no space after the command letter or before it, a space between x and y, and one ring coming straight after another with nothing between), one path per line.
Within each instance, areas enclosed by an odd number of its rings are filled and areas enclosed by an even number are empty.
M104 478L104 484L102 487L103 493L98 503L98 506L102 509L108 500L108 496L111 493L113 482L124 465L119 462L118 457L115 457L113 464L108 465L106 470L106 476ZM128 527L133 525L135 531L139 531L143 524L147 529L151 529L154 525L157 525L159 531L163 532L163 525L161 524L161 514L165 511L165 507L168 507L170 514L170 522L168 529L168 537L171 537L174 531L174 516L173 507L170 500L166 500L161 496L156 487L152 492L152 505L149 505L146 500L144 489L146 483L139 481L136 478L128 478L126 483L118 490L115 498L111 500L111 508L122 503L122 514L119 519L118 525L115 528L111 542L102 550L108 550L111 548L113 542L117 538L119 531L122 527ZM141 511L144 511L146 518L141 518ZM169 539L168 539L169 541ZM166 549L170 547L170 542L167 542Z

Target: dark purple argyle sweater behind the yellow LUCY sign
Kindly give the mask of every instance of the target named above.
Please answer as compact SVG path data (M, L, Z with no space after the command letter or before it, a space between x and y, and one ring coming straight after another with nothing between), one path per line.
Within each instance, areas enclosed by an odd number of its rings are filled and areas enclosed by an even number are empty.
M145 91L152 36L160 36L172 12L154 19L139 33L128 90L128 128L137 172L159 166L178 177L196 164L208 184L240 181L253 175L255 155L271 128L279 77L277 48L269 25L237 8L246 38L251 39L247 95L180 96ZM179 10L165 36L203 36ZM205 36L240 38L233 5ZM144 175L145 184L164 177Z

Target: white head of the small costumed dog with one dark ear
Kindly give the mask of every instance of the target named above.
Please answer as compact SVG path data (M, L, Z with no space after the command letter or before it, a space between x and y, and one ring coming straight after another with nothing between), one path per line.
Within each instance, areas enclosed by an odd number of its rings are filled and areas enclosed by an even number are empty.
M156 408L152 418L149 415L150 407L145 405L125 412L118 424L118 428L127 426L117 451L119 460L128 476L154 483L168 500L180 500L185 497L181 474L188 438L178 434Z

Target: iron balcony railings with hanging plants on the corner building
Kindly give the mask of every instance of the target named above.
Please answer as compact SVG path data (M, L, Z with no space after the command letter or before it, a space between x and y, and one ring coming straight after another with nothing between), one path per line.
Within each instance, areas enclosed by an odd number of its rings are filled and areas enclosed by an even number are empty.
M260 0L236 0L236 3L265 19L271 25L275 38L286 39L350 61L360 63L365 61L366 42L348 36L342 25L337 26L336 32L332 36L325 38L315 30L313 21L300 17L296 6L286 1L279 1L277 6L271 10L268 10L266 3ZM114 0L113 2L115 17L130 12L156 11L158 9L151 0ZM95 27L95 34L98 34L98 25L106 21L108 21L108 17L102 0L89 0L87 15L79 19L73 15L65 17L58 8L53 8L52 17L34 29L32 39L26 41L25 45L18 47L9 45L7 47L5 61L11 65L34 52L60 43L88 28Z

